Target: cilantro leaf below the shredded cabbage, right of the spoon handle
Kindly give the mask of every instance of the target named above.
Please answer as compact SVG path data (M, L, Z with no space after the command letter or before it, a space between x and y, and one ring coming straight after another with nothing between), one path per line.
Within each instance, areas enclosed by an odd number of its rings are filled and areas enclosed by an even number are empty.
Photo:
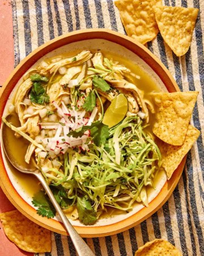
M79 220L82 221L84 225L93 225L96 222L96 212L92 209L91 203L86 196L77 198L76 207L79 213Z

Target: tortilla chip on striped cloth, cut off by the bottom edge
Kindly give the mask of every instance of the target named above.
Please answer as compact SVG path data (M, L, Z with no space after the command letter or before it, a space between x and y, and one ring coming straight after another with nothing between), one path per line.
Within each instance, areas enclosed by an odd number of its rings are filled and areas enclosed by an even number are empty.
M155 239L145 243L136 251L135 256L182 256L180 251L168 241L163 239Z

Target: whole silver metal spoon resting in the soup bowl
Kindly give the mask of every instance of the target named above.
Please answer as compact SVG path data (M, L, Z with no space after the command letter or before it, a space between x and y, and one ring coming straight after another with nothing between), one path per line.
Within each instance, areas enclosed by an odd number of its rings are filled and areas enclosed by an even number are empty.
M15 121L14 114L7 115L6 120L10 123L12 123L12 121ZM35 175L37 177L37 179L40 180L42 186L44 187L46 193L48 194L50 200L52 201L52 203L54 205L54 208L56 208L59 216L61 217L62 222L65 225L65 229L69 233L70 238L73 241L73 244L74 244L75 249L76 249L77 253L79 254L79 256L94 256L95 254L92 252L90 247L88 247L86 242L84 242L82 237L79 236L79 234L74 229L73 225L71 225L70 221L66 217L65 213L63 213L61 207L59 207L56 199L53 196L52 191L49 188L49 185L46 183L46 181L45 181L44 177L42 176L41 172L39 170L36 170L35 166L32 166L32 165L29 166L26 163L20 163L19 160L16 159L14 157L14 155L12 154L11 144L12 144L12 146L18 145L19 140L15 136L13 136L12 143L9 143L10 136L7 136L7 135L8 135L8 130L10 130L10 128L7 125L5 125L4 122L2 122L2 128L1 129L2 129L2 133L1 133L2 146L3 146L3 149L5 151L5 154L8 158L8 160L9 160L9 162L18 171L23 172L24 174ZM16 143L13 141L14 139L16 139Z

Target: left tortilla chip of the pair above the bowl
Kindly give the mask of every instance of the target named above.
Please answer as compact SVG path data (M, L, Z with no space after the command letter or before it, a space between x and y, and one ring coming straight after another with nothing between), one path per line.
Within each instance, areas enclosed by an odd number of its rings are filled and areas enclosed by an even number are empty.
M142 44L156 37L159 30L152 6L162 6L162 0L120 0L114 4L128 36Z

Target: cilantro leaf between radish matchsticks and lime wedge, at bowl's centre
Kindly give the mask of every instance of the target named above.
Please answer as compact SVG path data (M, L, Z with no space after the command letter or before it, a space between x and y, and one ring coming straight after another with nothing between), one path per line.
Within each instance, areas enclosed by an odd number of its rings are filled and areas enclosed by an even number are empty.
M84 132L87 130L90 130L91 137L96 146L101 146L102 144L105 144L109 137L108 126L104 125L100 121L96 121L91 125L82 126L75 131L71 131L69 134L67 134L67 136L73 136L74 138L82 137L84 135Z

